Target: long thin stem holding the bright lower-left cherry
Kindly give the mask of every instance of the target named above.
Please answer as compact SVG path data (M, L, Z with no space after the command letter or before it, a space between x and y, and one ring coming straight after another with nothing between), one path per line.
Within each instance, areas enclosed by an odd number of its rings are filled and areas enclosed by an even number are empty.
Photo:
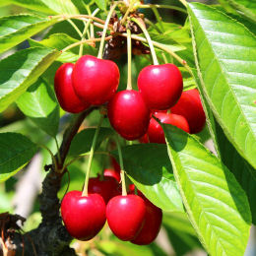
M97 127L96 127L96 134L94 136L93 144L92 144L90 154L89 154L89 160L88 160L88 165L87 165L87 173L86 173L86 179L85 179L85 184L84 184L84 189L83 189L82 196L88 196L88 183L89 183L91 166L92 166L92 162L93 162L93 158L94 158L94 154L95 154L95 150L96 150L96 139L98 137L98 133L99 133L99 130L100 130L103 119L104 119L104 115L102 114L100 116L99 122L98 122Z

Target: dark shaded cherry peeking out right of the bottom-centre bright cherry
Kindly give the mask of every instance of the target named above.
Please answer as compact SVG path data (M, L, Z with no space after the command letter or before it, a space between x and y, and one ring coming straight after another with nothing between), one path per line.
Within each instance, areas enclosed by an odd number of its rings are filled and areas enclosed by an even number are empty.
M146 204L146 217L145 224L136 238L132 240L132 243L146 245L152 243L160 232L162 212L161 209L148 200L141 191L138 191L138 195L144 199Z

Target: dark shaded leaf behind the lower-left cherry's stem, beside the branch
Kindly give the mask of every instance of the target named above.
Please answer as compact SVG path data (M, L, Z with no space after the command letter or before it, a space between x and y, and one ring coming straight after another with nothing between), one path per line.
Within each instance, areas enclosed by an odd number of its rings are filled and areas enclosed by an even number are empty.
M78 133L70 145L69 156L75 157L88 153L91 149L95 133L95 128L88 128ZM112 135L114 135L114 131L112 129L101 127L96 140L96 148L104 139Z

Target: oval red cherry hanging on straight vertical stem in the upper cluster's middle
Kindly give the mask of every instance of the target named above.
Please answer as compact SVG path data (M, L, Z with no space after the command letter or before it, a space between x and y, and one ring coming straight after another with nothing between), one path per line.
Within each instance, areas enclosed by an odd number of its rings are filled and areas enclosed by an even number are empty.
M137 91L117 93L108 102L107 109L111 125L126 140L137 140L147 132L150 110Z

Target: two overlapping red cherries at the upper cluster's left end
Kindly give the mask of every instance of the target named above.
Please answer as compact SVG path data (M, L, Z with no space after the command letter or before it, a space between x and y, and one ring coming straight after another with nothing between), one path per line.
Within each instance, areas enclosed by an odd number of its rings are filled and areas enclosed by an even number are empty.
M119 78L119 69L113 61L85 55L76 64L59 67L54 89L61 107L78 113L90 105L107 102L115 94Z

